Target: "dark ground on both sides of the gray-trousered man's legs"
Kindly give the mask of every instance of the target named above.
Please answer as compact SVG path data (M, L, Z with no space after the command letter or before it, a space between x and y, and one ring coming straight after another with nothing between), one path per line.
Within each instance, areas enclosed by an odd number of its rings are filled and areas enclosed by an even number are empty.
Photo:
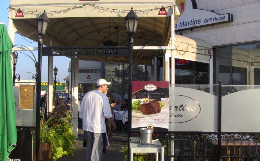
M74 147L76 152L74 156L62 157L59 161L86 161L86 148L83 148L84 131L78 129L78 138L75 139ZM101 161L124 161L124 153L119 152L122 147L127 146L128 133L127 130L113 131L110 146L106 146L106 154L102 153Z

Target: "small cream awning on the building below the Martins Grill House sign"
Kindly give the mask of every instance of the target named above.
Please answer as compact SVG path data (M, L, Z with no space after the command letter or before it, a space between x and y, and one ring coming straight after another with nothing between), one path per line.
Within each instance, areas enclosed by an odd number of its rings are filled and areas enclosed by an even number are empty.
M213 56L212 45L204 40L175 35L175 58L209 63Z

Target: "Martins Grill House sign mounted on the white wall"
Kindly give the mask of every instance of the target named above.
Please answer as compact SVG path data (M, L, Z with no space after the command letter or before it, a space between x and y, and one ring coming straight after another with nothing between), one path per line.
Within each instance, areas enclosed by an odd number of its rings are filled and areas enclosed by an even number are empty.
M180 11L175 31L210 26L233 22L232 14L219 15L212 11L197 9L195 0L175 0L176 7Z

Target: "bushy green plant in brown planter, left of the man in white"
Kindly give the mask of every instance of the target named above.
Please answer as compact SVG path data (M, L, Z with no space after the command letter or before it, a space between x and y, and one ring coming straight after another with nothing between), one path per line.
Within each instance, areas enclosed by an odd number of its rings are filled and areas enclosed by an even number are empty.
M73 155L75 135L72 129L71 111L49 113L47 118L40 124L40 142L51 143L53 147L52 160Z

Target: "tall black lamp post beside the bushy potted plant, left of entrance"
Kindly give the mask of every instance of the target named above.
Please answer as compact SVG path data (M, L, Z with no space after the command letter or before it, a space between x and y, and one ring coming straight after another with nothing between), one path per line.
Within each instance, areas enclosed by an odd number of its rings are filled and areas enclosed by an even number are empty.
M41 48L43 45L43 37L46 35L46 29L50 20L48 19L45 10L37 18L38 24L38 64L37 64L37 92L36 92L36 161L39 161L40 147L40 99L41 99Z

